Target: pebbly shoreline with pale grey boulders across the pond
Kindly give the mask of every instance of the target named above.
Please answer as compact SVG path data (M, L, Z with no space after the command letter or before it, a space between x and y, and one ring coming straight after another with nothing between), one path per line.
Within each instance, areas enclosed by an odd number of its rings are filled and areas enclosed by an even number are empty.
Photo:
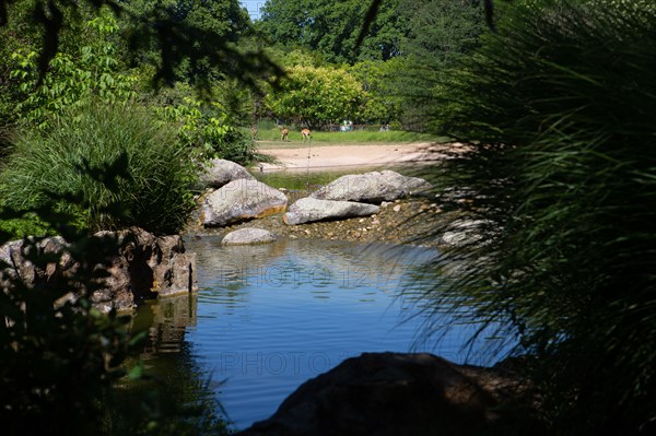
M424 247L437 247L442 241L435 228L446 215L433 188L421 178L406 177L396 172L342 176L328 186L308 185L307 189L289 190L260 184L250 172L234 162L214 160L201 174L201 180L204 191L197 198L196 212L183 236L224 237L237 229L260 228L278 238L291 239ZM301 199L312 204L308 211L297 212L296 204L303 203L298 201ZM319 199L330 201L321 203L324 200ZM360 200L362 202L358 203ZM348 213L345 216L338 213L332 219L317 217L324 208L327 210L337 203L347 209L360 209L350 217ZM367 203L376 204L375 213L362 213ZM292 210L295 212L290 214Z

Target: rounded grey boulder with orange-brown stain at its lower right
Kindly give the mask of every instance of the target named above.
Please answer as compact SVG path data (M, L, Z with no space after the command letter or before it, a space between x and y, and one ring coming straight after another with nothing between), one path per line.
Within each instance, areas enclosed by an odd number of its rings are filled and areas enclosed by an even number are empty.
M283 212L288 199L278 189L258 180L233 180L210 192L202 202L206 227L222 227Z

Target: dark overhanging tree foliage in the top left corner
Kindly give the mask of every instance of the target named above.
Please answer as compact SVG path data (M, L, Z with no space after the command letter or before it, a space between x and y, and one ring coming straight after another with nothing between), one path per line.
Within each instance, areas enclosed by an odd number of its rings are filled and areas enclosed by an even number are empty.
M142 52L149 59L153 51L157 54L155 82L171 84L179 78L180 68L195 71L199 66L219 68L222 74L253 86L262 75L280 73L262 50L243 51L232 44L246 19L243 10L235 13L235 0L155 2L153 8L149 5L153 3L144 2L130 9L131 4L114 0L0 0L0 27L30 17L36 35L43 36L34 42L42 78L60 51L67 30L105 9L131 24L126 38L132 52ZM221 22L222 13L230 15L230 31Z

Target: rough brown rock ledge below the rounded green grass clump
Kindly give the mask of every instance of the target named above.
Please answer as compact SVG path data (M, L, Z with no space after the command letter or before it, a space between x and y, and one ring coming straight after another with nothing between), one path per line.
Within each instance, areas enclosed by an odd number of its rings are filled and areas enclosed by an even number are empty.
M95 263L77 259L73 247L61 237L9 241L0 247L0 285L5 290L15 285L73 287L59 304L86 294L101 311L131 311L147 297L198 288L196 254L185 251L179 235L157 237L141 228L99 232L85 247L94 250ZM83 283L75 280L81 269L103 270L105 276Z

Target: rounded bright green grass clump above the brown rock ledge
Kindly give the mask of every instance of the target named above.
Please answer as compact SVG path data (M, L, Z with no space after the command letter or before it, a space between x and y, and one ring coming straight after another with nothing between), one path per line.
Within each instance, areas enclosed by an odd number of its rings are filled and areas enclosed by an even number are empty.
M90 232L139 226L169 234L192 211L195 178L175 130L137 106L89 103L48 132L13 141L0 199L4 210L66 213L68 224Z

